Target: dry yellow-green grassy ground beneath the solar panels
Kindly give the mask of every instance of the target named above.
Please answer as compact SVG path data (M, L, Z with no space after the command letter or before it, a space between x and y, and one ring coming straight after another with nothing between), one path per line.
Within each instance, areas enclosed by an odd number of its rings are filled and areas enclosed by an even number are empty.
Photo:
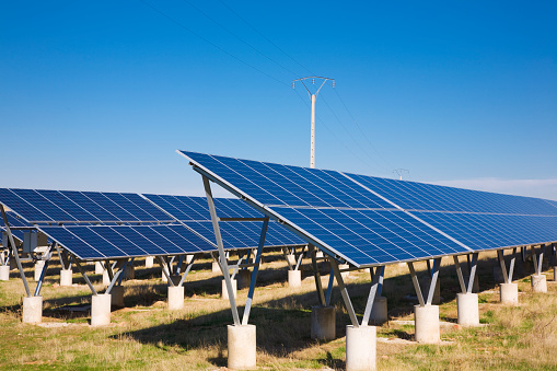
M531 264L517 267L519 306L498 304L494 282L495 254L479 260L478 328L456 325L455 294L459 283L452 259L444 258L440 273L441 345L414 341L413 304L405 299L414 289L406 266L385 269L384 295L388 300L390 322L378 327L378 369L380 370L557 370L557 285L548 275L548 293L530 288ZM305 262L305 260L304 260ZM306 263L306 262L305 262ZM142 262L137 262L138 266ZM307 264L305 264L307 266ZM426 265L417 265L426 275ZM93 275L96 289L102 277ZM59 310L63 305L89 303L91 292L74 275L73 287L58 287L59 266L49 266L44 285L42 325L21 323L24 292L13 270L8 282L0 282L0 369L114 369L114 370L216 370L227 366L227 325L232 322L228 301L221 300L220 280L210 271L210 260L200 260L185 283L184 310L166 310L166 287L159 268L136 268L135 280L125 281L125 309L113 312L112 324L89 326L89 313ZM27 264L32 281L32 267ZM271 254L263 265L251 323L257 325L257 364L266 370L343 369L345 326L349 318L338 291L337 336L329 343L310 339L311 306L317 304L310 271L303 273L302 288L289 289L285 282L286 263ZM326 279L324 277L324 283ZM362 314L369 290L369 275L351 273L348 290L357 313ZM34 286L34 285L32 285ZM247 290L239 291L245 302Z

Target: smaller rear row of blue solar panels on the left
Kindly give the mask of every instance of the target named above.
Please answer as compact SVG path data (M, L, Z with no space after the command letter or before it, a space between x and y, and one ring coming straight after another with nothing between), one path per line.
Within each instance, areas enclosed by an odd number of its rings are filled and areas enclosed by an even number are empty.
M35 224L81 259L194 254L216 251L214 232L204 197L0 189L10 225ZM216 199L221 218L260 218L241 200ZM140 225L138 225L140 223ZM256 247L260 221L221 221L224 248ZM13 231L19 235L21 231ZM266 246L303 240L270 223Z

